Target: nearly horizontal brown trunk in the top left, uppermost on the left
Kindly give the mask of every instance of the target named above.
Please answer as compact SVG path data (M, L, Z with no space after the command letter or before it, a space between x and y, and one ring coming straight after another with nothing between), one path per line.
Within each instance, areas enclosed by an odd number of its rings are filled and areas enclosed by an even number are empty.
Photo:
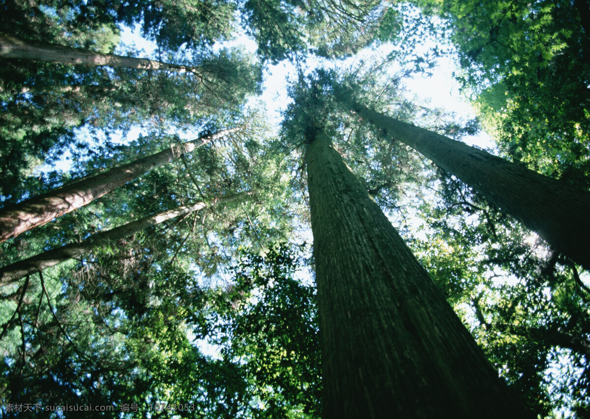
M123 69L167 70L176 73L198 73L198 68L176 66L143 58L103 54L80 48L24 40L0 33L0 57L19 60L47 61L58 64L109 66Z

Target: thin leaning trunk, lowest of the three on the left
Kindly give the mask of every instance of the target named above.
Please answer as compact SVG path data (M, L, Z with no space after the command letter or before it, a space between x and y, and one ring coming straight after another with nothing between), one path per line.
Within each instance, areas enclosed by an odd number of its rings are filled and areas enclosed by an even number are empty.
M218 205L238 199L244 194L234 196L222 197L215 199L211 204ZM22 261L15 262L0 268L0 286L12 284L13 282L25 277L26 275L34 274L35 272L51 268L61 262L73 259L81 255L89 254L93 249L104 245L105 243L114 242L119 239L132 235L135 232L146 229L159 223L175 217L188 214L199 209L203 209L210 204L204 202L197 202L190 205L180 206L172 210L164 211L156 215L149 215L139 220L132 221L122 226L98 232L80 243L71 243L69 245L61 246L57 249L51 249L47 252L31 256Z

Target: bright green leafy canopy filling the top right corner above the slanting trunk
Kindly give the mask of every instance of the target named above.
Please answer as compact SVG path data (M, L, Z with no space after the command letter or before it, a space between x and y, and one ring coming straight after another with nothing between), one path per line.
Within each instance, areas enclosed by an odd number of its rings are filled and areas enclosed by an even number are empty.
M416 2L456 48L457 79L514 160L590 187L588 3ZM442 39L441 39L442 41Z

